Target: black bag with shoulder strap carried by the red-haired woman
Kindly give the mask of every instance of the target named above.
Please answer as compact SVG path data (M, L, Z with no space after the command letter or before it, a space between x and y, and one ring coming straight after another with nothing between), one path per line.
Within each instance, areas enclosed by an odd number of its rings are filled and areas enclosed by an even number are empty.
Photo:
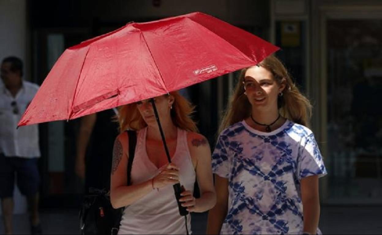
M130 175L137 137L135 131L127 131L127 133L129 136L127 180L128 185L131 185ZM117 234L125 208L113 208L108 190L90 188L89 193L84 196L79 211L80 234Z

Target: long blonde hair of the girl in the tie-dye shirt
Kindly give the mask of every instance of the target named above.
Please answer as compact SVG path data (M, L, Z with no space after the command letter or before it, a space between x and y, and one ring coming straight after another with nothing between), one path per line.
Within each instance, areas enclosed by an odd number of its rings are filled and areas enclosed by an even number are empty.
M282 91L283 96L278 97L277 100L280 114L295 123L309 127L312 105L293 83L282 62L276 56L270 55L261 61L258 66L269 70L279 85L283 82L283 79L285 81L285 88ZM244 95L243 84L247 69L249 68L241 70L239 80L220 123L219 133L228 126L242 121L251 115L251 103L249 103L247 96Z

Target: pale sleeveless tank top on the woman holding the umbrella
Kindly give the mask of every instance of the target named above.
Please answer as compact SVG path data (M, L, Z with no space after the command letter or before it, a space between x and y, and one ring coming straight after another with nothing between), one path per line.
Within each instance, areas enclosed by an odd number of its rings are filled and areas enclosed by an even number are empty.
M147 127L138 131L131 183L140 184L162 171L149 160L146 152ZM180 184L193 192L195 170L187 144L187 132L178 128L176 150L172 162L180 169ZM191 234L191 216L187 215ZM185 217L180 216L172 185L152 190L123 212L118 234L186 234Z

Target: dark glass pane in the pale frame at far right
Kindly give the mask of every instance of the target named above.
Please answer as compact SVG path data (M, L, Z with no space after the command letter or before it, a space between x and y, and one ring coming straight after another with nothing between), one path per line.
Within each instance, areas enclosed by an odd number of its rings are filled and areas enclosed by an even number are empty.
M382 19L328 19L330 199L382 202Z

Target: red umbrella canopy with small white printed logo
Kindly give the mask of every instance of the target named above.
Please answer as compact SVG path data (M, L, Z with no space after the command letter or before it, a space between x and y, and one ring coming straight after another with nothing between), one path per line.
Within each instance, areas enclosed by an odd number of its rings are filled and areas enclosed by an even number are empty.
M179 90L278 48L203 13L129 23L64 51L19 126L69 120Z

